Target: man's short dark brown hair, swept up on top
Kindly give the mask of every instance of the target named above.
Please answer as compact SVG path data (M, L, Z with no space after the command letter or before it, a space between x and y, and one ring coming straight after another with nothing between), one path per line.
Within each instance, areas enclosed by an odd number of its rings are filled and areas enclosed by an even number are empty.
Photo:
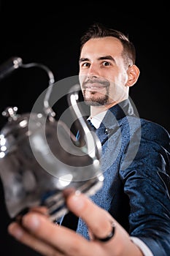
M129 64L129 61L132 61L132 63L135 64L136 50L133 42L131 42L128 39L128 36L125 36L122 32L115 29L109 29L101 23L93 23L93 25L89 27L88 31L82 35L80 39L80 51L82 50L83 45L85 45L85 42L88 42L89 39L100 37L116 37L119 39L123 45L122 56L125 63Z

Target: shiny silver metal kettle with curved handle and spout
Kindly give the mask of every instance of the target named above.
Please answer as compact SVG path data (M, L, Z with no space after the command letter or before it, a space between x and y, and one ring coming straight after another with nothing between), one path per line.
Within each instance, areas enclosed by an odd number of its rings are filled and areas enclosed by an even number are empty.
M15 219L31 207L46 206L55 221L68 211L64 199L67 189L89 196L101 188L101 143L83 117L78 84L68 91L68 100L79 140L63 121L55 119L50 108L54 86L50 69L42 64L23 64L18 57L9 64L12 71L18 67L44 69L49 86L42 111L36 113L33 108L31 113L18 114L18 108L8 107L2 113L7 123L0 132L0 176L7 212ZM4 73L0 69L0 77Z

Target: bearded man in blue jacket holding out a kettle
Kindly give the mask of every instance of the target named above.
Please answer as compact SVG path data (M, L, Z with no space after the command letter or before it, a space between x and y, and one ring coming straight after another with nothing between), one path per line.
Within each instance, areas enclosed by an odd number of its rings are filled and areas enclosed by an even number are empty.
M31 211L9 233L42 255L170 255L169 134L139 118L128 91L139 78L135 48L99 24L82 37L80 85L101 140L104 185L66 203L77 232ZM39 210L40 211L40 210Z

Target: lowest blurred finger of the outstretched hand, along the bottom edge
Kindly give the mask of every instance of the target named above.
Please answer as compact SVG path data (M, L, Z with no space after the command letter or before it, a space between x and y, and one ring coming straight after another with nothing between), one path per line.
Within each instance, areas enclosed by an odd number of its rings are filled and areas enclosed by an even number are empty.
M49 244L45 244L44 241L39 240L35 236L28 233L23 227L18 225L17 222L13 222L8 227L8 232L11 236L14 236L16 240L30 246L36 252L40 252L42 255L56 255L63 256L63 253L60 251L56 251L56 248L50 246Z

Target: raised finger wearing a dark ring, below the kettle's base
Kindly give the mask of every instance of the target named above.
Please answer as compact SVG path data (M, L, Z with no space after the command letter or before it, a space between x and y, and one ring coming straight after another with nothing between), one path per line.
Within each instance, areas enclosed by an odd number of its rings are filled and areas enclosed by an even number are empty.
M72 193L66 198L66 203L70 211L86 222L90 236L97 238L91 244L98 245L101 255L142 255L123 227L87 196ZM112 234L112 224L115 225L114 236L107 242L99 241L98 238L108 238Z

